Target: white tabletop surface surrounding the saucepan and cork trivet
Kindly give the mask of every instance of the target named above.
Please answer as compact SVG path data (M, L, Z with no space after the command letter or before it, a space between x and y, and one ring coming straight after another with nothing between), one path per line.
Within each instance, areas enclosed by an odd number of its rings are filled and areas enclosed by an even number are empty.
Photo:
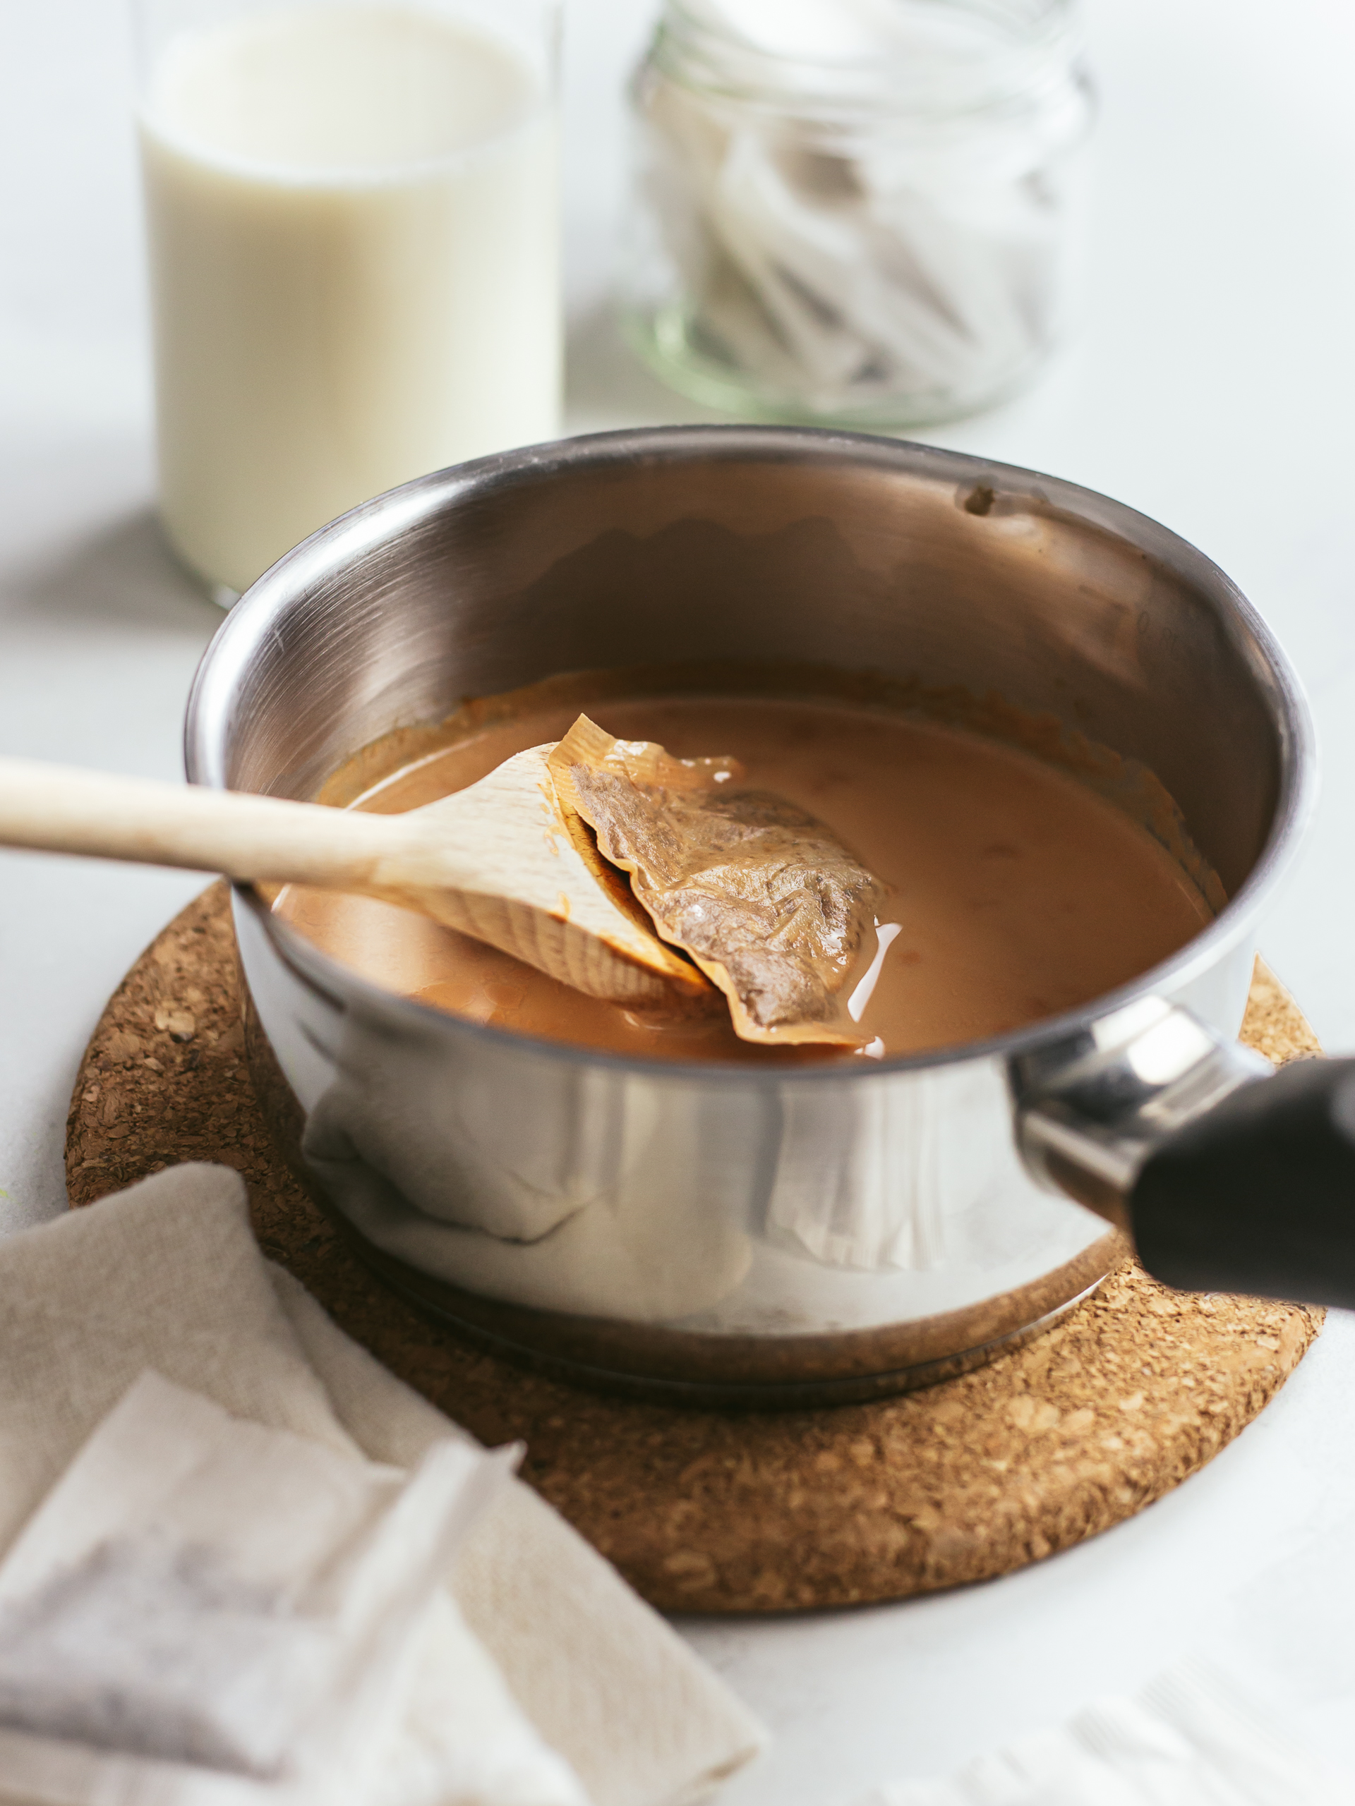
M620 85L652 0L569 0L569 428L699 419L609 311ZM145 294L116 0L0 9L0 749L179 775L220 616L152 513ZM938 441L1104 489L1214 556L1286 643L1324 795L1263 936L1355 1049L1355 7L1093 0L1104 112L1089 320L1030 397ZM0 1226L65 1205L76 1064L139 948L199 887L0 854ZM1129 1524L1006 1580L683 1629L764 1714L728 1806L838 1806L1142 1683L1270 1559L1355 1504L1355 1322ZM1351 1551L1355 1560L1355 1551Z

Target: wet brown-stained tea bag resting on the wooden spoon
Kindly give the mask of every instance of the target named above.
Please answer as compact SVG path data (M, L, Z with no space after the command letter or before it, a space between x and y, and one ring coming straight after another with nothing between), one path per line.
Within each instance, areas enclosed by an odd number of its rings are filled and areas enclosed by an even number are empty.
M730 1002L744 1040L864 1046L849 979L874 952L883 883L820 820L741 789L737 759L674 759L587 715L546 760L564 809L623 870L665 941Z

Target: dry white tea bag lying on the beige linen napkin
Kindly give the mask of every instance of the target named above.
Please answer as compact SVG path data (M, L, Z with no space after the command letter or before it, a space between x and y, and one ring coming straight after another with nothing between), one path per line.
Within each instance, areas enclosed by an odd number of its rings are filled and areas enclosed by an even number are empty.
M448 1436L410 1474L146 1369L0 1562L7 1786L370 1806L392 1757L444 1779L448 1752L401 1719L466 1643L439 1584L513 1456ZM555 1781L542 1802L582 1802Z

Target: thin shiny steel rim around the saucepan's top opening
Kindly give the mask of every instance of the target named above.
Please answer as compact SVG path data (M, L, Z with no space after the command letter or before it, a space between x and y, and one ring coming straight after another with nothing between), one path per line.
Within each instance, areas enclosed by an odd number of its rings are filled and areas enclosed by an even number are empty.
M466 1035L500 1051L520 1049L537 1058L555 1058L565 1064L605 1066L614 1071L665 1078L679 1084L701 1084L719 1078L753 1087L764 1085L824 1085L860 1084L889 1073L920 1071L925 1067L956 1066L967 1060L1010 1060L1053 1040L1086 1031L1115 1010L1154 991L1178 991L1194 977L1212 970L1225 954L1248 932L1266 899L1290 865L1315 804L1315 746L1312 715L1294 666L1281 650L1265 619L1243 596L1232 578L1210 558L1124 502L1115 502L1097 489L1003 464L967 452L950 452L916 441L885 439L874 433L838 432L815 426L647 426L623 428L607 433L587 433L576 439L524 446L493 457L453 464L446 470L416 477L412 482L388 489L385 495L361 502L349 513L320 527L300 545L285 553L264 573L231 609L208 645L193 677L184 719L184 768L190 784L224 789L226 735L235 722L235 681L248 666L253 650L276 632L276 619L294 607L313 589L322 574L334 571L345 558L334 558L336 545L372 544L361 529L381 524L379 538L412 526L437 504L455 497L482 495L513 488L522 480L542 480L555 470L578 464L616 464L636 461L681 461L685 457L759 457L762 461L806 462L820 461L836 452L851 462L903 464L921 475L954 477L974 484L995 479L1003 488L1024 489L1039 500L1068 511L1077 518L1117 533L1140 551L1167 563L1176 574L1196 587L1212 592L1225 609L1225 618L1236 621L1234 641L1250 663L1259 686L1270 694L1279 739L1279 793L1265 845L1238 892L1220 910L1209 926L1192 936L1169 959L1160 961L1136 979L1064 1010L1041 1017L1005 1035L983 1040L956 1042L921 1053L903 1053L883 1060L858 1064L833 1062L824 1066L777 1066L759 1069L726 1060L665 1060L659 1057L623 1055L607 1049L573 1046L524 1035L517 1029L493 1028L453 1017L432 1004L401 997L363 979L347 966L322 954L296 930L282 923L249 885L235 885L238 901L260 921L275 952L311 990L332 1002L365 1004L369 1013L406 1020L419 1033Z

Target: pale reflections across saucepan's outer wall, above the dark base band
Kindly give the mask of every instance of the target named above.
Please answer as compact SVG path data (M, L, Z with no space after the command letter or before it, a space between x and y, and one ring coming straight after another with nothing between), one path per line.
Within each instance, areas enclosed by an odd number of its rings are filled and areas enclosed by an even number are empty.
M811 1085L645 1073L448 1037L376 993L340 1006L284 977L249 908L237 928L313 1181L376 1248L481 1297L714 1335L869 1329L1028 1284L1104 1233L1024 1172L1001 1060Z

